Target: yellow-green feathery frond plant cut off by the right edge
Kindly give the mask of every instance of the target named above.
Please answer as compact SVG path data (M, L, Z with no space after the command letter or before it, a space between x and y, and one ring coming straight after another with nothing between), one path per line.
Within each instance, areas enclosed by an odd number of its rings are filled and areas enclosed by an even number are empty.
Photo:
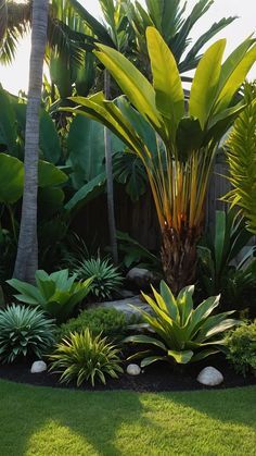
M246 109L226 143L231 192L226 200L241 209L247 229L256 235L256 82L245 84Z

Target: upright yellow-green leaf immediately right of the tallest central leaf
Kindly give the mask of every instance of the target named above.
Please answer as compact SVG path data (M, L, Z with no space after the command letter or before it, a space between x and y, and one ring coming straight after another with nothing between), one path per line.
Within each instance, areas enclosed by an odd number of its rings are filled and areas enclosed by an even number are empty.
M204 53L196 69L190 94L190 115L199 119L202 130L213 109L219 84L226 39L220 39Z

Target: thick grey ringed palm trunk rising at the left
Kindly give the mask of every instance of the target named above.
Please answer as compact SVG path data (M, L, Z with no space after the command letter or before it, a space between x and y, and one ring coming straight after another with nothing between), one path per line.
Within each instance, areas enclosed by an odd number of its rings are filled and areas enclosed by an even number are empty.
M25 133L25 182L17 256L13 274L15 278L26 282L35 281L35 272L38 269L39 109L47 44L48 9L49 0L33 1L31 53Z

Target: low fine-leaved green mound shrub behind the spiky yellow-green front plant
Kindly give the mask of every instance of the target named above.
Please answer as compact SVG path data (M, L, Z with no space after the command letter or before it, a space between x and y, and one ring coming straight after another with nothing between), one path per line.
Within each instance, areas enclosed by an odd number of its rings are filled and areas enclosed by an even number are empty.
M121 338L127 331L128 324L129 322L124 312L113 308L98 307L84 310L77 318L73 318L62 324L57 338L66 337L72 332L80 333L87 328L93 335L102 333L103 336Z

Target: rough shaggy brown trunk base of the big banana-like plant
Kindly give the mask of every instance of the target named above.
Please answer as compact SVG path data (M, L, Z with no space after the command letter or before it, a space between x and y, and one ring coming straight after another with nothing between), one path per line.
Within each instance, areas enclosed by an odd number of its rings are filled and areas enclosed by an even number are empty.
M177 295L181 288L195 280L197 236L191 229L181 234L172 227L162 230L162 263L166 282Z

